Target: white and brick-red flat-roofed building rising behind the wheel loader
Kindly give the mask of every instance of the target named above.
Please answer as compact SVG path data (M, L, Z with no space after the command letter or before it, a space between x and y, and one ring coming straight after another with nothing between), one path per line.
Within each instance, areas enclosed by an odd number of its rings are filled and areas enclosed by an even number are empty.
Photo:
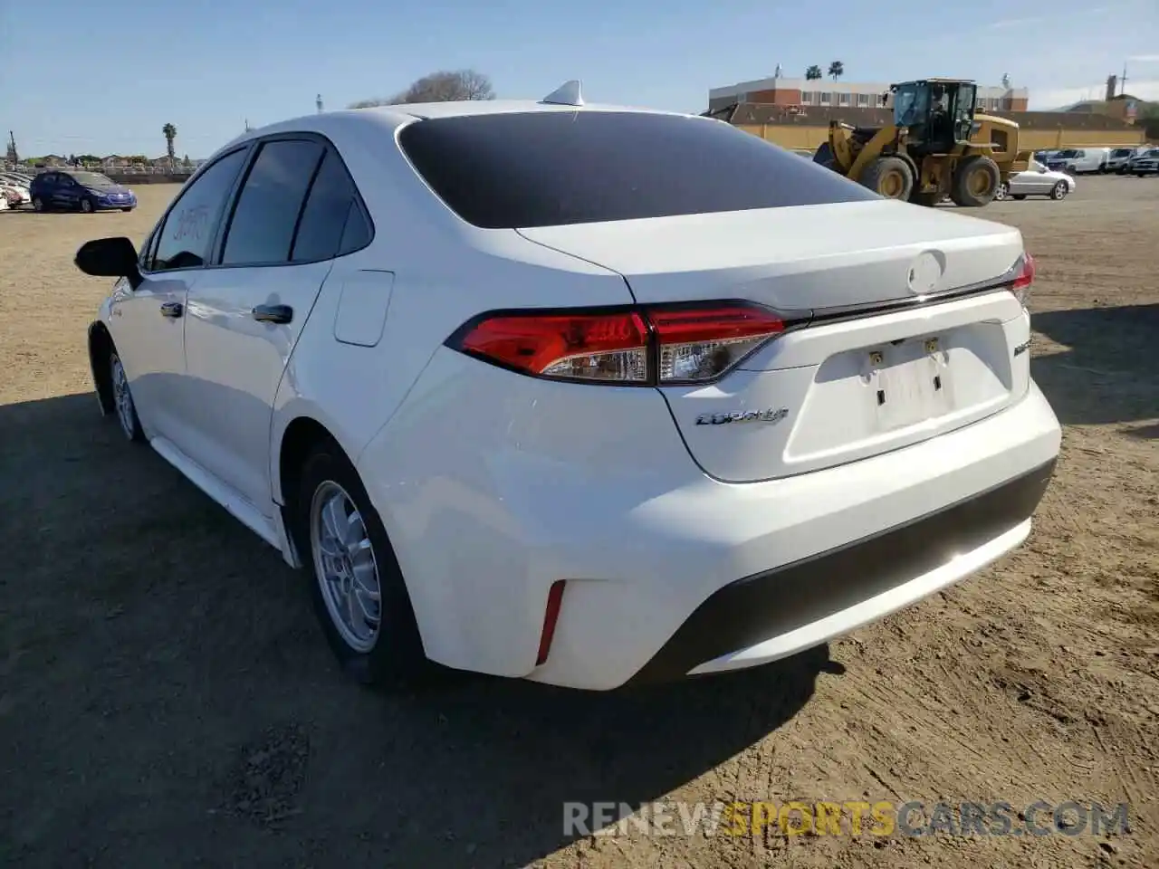
M873 109L885 104L883 97L888 93L889 83L883 82L773 76L713 88L708 92L708 110L717 111L735 103ZM1026 88L978 86L978 108L983 111L1026 111L1028 100Z

